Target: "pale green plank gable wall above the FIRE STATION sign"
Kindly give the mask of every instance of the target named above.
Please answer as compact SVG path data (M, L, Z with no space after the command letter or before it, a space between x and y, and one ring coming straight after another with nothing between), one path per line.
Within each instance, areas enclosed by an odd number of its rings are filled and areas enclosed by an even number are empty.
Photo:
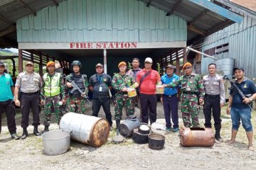
M186 41L186 21L137 0L68 0L17 21L18 42Z

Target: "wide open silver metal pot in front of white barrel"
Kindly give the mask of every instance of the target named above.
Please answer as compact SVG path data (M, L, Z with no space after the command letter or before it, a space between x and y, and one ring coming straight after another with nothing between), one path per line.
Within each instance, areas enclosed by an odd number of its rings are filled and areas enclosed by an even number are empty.
M49 155L63 154L70 149L69 130L51 130L42 135L43 152Z

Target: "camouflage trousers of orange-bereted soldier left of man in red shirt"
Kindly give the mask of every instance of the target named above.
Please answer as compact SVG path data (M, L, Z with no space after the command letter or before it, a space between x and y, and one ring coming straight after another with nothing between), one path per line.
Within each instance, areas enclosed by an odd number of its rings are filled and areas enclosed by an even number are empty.
M132 107L132 98L129 98L125 94L115 94L114 103L114 119L122 120L122 109L126 108L127 116L134 115L134 109Z

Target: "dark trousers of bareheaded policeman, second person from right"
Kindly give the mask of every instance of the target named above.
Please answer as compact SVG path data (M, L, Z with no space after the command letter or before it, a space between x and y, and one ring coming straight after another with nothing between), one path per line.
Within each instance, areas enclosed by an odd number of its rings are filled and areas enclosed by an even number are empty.
M221 128L221 119L220 119L220 96L205 96L205 101L204 101L204 106L203 106L203 113L205 115L206 123L205 127L206 128L211 128L211 112L213 110L213 119L214 119L214 127L216 131L220 131Z

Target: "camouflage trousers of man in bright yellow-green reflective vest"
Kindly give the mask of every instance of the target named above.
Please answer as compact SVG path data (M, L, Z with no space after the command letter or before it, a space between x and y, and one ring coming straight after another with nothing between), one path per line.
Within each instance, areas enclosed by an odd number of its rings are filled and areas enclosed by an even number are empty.
M54 115L57 123L60 123L60 118L63 116L60 111L60 106L58 102L60 101L60 96L46 97L44 110L44 120L43 124L46 126L50 125L50 118L52 115L52 111L54 111Z

